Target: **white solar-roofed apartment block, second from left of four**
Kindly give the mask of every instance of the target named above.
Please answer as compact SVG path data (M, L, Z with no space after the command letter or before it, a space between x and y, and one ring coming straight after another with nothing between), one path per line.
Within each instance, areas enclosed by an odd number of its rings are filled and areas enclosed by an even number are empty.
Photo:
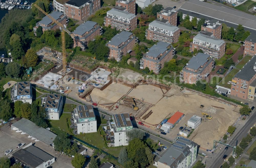
M47 111L49 120L59 120L63 107L63 98L61 94L47 94L41 98L41 105Z

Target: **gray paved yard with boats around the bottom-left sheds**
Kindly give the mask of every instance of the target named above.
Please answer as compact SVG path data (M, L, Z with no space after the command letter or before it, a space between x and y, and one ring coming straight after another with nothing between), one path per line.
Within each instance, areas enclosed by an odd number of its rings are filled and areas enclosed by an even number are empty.
M34 140L31 140L31 138L28 138L28 134L21 135L20 133L17 133L16 131L12 131L11 127L8 125L4 125L1 127L0 131L0 157L4 156L4 153L6 150L12 149L13 151L7 156L11 157L12 153L19 150L16 148L16 146L20 143L26 143L25 145L28 145L29 143L33 143L34 146L44 150L45 152L49 153L52 156L56 156L57 161L53 163L51 166L56 168L62 168L62 167L73 167L71 165L71 158L63 155L59 155L58 151L55 151L52 146L47 146L46 144L42 142L35 142ZM56 154L57 153L57 154Z

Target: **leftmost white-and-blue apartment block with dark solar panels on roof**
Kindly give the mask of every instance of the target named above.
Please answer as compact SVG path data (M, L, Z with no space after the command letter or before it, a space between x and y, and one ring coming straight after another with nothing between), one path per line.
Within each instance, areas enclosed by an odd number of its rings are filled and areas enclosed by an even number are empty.
M11 98L14 102L32 103L32 87L30 82L17 82L11 88Z

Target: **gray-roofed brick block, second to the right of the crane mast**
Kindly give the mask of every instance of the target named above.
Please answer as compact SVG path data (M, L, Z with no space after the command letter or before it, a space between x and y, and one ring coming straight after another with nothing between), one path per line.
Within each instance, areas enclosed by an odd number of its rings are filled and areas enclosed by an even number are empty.
M137 40L131 32L122 31L115 35L107 44L110 49L109 58L115 58L116 61L121 61L123 55L132 51Z

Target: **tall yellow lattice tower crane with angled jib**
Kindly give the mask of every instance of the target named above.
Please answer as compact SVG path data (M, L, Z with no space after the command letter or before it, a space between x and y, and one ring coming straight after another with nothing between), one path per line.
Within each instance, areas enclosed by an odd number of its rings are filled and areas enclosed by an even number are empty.
M55 20L53 17L51 17L48 13L46 13L44 10L42 10L37 4L33 4L34 7L36 7L38 10L40 10L42 13L44 13L46 16L48 16L54 23L56 23L61 30L61 43L62 43L62 64L63 64L63 73L67 71L67 60L66 60L66 40L65 40L65 32L70 34L68 30L65 29L65 27Z

